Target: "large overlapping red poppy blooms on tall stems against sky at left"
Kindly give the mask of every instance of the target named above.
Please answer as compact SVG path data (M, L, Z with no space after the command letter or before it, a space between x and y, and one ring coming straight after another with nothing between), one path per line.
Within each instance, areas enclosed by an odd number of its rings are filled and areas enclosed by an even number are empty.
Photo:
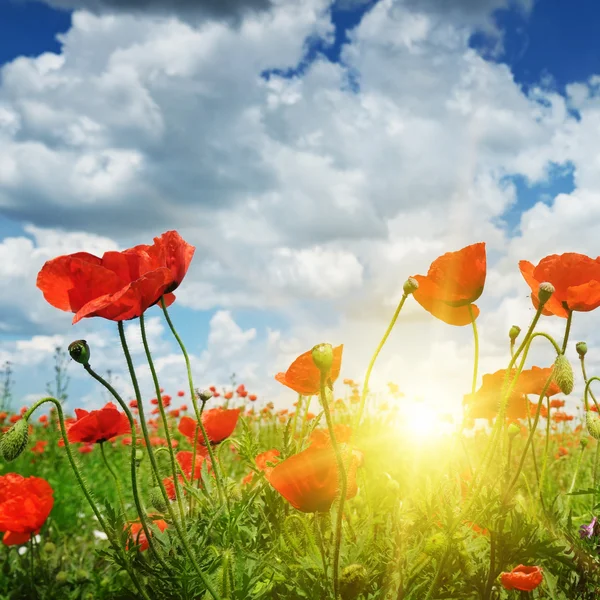
M105 252L102 258L76 252L47 261L37 277L37 287L52 306L75 313L73 324L84 317L111 321L134 319L183 281L194 255L194 246L176 231L122 252Z

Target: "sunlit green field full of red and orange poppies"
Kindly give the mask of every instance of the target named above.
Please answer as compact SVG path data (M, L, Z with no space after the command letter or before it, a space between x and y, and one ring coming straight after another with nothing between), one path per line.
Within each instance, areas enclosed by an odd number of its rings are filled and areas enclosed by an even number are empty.
M101 258L60 256L37 286L73 323L117 323L135 398L73 361L111 401L64 413L40 398L0 413L0 597L10 599L592 599L600 594L600 417L576 313L600 307L600 260L567 253L518 265L535 316L507 332L506 361L478 373L477 243L408 277L361 383L340 380L343 346L321 340L275 379L276 409L242 384L199 390L168 307L194 247L169 231ZM516 266L515 266L516 268ZM412 296L412 298L411 298ZM406 302L473 330L473 383L458 421L369 381ZM144 324L162 309L188 381L160 387ZM563 319L562 337L540 330ZM143 398L124 329L137 319L154 398ZM555 352L530 365L532 344ZM575 346L574 369L565 352ZM138 367L139 368L139 367ZM207 375L208 377L209 375ZM583 390L581 409L564 397ZM251 393L252 392L252 393ZM417 441L411 428L431 435Z

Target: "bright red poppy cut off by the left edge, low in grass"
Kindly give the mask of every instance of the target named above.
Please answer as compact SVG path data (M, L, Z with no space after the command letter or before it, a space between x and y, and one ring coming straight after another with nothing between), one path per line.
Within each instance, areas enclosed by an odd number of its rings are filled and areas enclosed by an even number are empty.
M0 476L0 531L6 546L26 543L46 522L54 504L50 484L17 473Z

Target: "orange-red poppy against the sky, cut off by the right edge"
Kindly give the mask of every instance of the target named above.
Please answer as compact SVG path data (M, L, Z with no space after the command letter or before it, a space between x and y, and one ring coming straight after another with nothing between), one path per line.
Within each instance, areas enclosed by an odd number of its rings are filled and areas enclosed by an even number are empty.
M538 288L544 281L554 286L554 293L544 304L542 314L569 316L571 311L588 312L600 306L600 261L585 254L567 252L542 258L537 266L527 260L519 269L531 288L531 299L537 308Z

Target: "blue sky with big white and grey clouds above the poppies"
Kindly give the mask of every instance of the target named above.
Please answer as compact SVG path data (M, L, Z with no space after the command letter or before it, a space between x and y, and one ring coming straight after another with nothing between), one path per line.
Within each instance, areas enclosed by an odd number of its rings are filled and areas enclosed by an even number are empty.
M57 255L169 229L197 248L172 316L200 387L235 372L289 404L273 375L321 341L344 343L342 375L360 380L406 277L478 241L482 371L506 366L509 327L533 316L518 261L600 254L599 16L560 0L0 2L0 363L15 406L79 338L130 393L116 325L72 326L35 279ZM147 319L173 393L182 358L158 309ZM592 372L599 325L574 320ZM127 332L150 397L137 321ZM470 328L410 301L373 387L458 407L472 352ZM71 407L105 401L68 371Z

